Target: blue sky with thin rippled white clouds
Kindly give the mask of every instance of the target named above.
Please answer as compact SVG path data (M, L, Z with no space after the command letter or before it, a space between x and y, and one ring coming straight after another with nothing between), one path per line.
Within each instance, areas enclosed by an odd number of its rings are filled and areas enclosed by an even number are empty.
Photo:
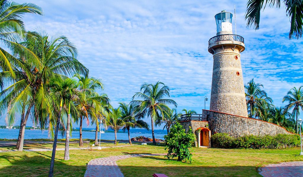
M244 83L254 78L263 84L276 106L285 105L281 100L288 90L303 85L303 40L288 39L290 21L284 7L265 8L255 31L246 27L243 0L15 2L43 8L44 16L24 16L26 29L67 36L90 76L102 79L105 89L100 93L108 94L114 107L131 101L143 82L161 81L171 88L178 111L201 113L211 92L213 58L208 40L216 35L214 16L223 9L234 13L234 4L237 34L246 46L241 53ZM0 124L5 124L4 117Z

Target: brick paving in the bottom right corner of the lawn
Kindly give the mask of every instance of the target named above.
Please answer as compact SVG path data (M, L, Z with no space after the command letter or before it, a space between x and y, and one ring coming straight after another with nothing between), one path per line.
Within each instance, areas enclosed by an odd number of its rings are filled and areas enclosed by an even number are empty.
M261 168L260 175L264 177L302 177L303 162L283 162L279 164L269 164Z

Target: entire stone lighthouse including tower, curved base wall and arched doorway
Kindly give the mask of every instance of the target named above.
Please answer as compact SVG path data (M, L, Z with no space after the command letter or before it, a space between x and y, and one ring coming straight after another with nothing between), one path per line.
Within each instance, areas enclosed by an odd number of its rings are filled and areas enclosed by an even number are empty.
M240 53L245 50L244 38L232 32L233 15L221 11L215 15L217 35L208 41L213 54L210 110L202 114L184 114L180 121L185 129L195 132L198 147L211 146L211 134L290 134L285 128L258 119L248 118Z

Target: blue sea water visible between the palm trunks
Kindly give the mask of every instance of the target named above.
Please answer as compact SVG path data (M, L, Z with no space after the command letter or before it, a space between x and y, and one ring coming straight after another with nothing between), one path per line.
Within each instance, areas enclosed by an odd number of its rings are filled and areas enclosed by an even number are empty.
M0 129L0 138L6 139L17 139L19 134L19 129ZM167 134L166 130L155 130L155 138L164 140L163 136ZM98 139L99 139L98 133ZM138 137L138 136L145 136L145 137L152 137L151 130L144 130L144 129L131 129L130 130L130 137ZM48 130L25 130L24 139L40 139L40 138L49 138L48 137ZM62 137L59 133L58 138L65 138ZM72 137L70 138L80 138L79 131L73 131ZM95 139L95 131L82 131L82 138L83 139ZM101 134L102 140L115 140L114 132L105 132ZM123 133L123 131L119 131L117 133L118 140L128 140L127 132Z

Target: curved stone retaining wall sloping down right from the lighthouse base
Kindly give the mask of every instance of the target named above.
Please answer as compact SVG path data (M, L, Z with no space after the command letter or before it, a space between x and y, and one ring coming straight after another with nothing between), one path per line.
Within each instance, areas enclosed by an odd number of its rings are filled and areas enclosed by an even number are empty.
M232 137L239 137L245 134L252 135L276 135L293 134L285 128L276 124L242 117L218 111L203 110L203 114L208 114L209 128L211 134L227 133Z

